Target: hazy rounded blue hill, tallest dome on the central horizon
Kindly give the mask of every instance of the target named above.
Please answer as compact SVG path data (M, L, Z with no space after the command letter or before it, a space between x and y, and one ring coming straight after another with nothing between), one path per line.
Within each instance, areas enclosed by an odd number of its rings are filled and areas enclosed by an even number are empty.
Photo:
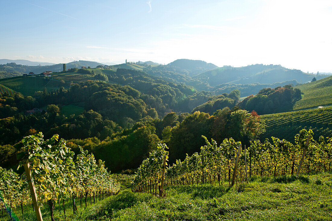
M190 59L178 59L167 64L167 66L176 68L178 73L180 73L182 69L185 69L188 71L189 76L193 76L218 67L205 61Z

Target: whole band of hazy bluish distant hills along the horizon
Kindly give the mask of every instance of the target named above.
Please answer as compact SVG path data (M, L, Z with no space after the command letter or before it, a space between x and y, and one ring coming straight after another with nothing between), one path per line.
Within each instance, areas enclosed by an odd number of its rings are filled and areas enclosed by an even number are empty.
M98 65L104 66L102 63L80 60L66 63L66 69L80 69L82 66L95 68ZM234 89L239 89L242 97L256 94L264 87L297 85L310 82L314 77L319 80L328 76L308 74L281 65L256 64L245 67L223 66L219 68L205 61L189 59L178 59L167 65L140 61L139 64L138 62L127 62L107 67L113 71L118 68L144 71L165 81L187 84L198 91L211 91L213 94L230 93ZM29 72L35 74L43 71L61 72L62 70L63 64L41 67L5 64L0 65L0 77L15 77Z

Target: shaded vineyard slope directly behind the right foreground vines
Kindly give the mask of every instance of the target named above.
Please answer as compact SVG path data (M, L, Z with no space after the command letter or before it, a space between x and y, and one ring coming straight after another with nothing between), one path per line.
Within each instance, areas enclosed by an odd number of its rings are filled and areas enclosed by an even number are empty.
M266 133L264 138L279 137L292 140L295 136L294 131L300 129L312 129L314 134L324 137L331 137L332 134L332 108L321 108L312 110L293 111L277 114L262 115L265 120ZM318 136L314 137L318 139Z

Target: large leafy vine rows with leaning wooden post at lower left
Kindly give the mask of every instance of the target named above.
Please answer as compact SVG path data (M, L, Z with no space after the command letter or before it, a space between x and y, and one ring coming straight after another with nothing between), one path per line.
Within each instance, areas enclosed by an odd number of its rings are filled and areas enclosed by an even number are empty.
M25 137L22 144L19 168L24 166L25 175L19 176L11 169L0 168L0 204L2 208L7 208L12 219L13 208L20 206L23 216L23 206L33 203L37 220L41 220L40 207L48 204L51 220L54 221L54 202L60 204L62 201L65 214L65 200L71 199L75 214L75 200L80 200L82 206L83 199L87 206L88 197L92 204L92 200L96 203L120 190L120 185L111 178L104 162L96 162L93 154L83 149L74 160L74 152L57 135L44 140L39 133Z

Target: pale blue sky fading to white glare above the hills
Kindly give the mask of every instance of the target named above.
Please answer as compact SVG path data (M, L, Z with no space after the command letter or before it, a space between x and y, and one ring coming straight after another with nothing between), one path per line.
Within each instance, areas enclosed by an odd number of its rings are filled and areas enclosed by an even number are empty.
M332 72L331 0L0 0L0 59Z

